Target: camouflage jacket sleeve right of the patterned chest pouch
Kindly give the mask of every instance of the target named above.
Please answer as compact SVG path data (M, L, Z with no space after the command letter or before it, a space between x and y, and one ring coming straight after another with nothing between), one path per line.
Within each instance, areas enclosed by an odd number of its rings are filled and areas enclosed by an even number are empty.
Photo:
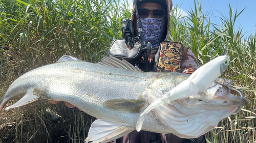
M188 47L184 48L182 61L183 73L192 74L199 68L195 54Z

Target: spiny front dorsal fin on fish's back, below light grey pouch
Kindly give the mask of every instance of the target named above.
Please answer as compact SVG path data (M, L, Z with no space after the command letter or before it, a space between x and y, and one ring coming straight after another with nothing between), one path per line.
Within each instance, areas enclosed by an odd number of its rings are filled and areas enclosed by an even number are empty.
M119 69L141 71L141 69L139 69L138 66L133 66L129 62L125 60L121 61L115 58L114 56L110 56L110 57L104 56L102 61L96 64L113 67L113 68L119 68Z

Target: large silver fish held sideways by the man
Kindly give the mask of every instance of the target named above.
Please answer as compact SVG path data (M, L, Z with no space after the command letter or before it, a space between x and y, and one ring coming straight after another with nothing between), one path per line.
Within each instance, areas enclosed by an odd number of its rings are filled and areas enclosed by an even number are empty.
M24 93L22 99L6 109L38 99L66 101L98 118L86 141L106 142L135 130L143 110L188 77L182 73L142 72L113 58L104 58L99 65L63 56L55 64L17 78L7 90L0 111L10 99ZM245 98L230 93L230 83L218 79L204 92L154 108L146 114L142 130L173 133L182 138L195 138L210 131L247 104Z

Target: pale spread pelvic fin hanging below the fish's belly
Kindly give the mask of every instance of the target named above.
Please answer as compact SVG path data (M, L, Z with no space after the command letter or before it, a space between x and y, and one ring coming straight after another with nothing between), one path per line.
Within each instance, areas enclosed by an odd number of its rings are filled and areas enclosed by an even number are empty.
M134 130L135 128L129 124L105 119L97 119L93 122L86 141L108 142L129 134Z

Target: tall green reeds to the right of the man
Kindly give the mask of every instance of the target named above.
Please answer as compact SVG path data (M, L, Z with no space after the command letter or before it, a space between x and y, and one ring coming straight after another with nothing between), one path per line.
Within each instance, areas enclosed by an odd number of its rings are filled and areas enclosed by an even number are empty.
M238 12L229 5L229 16L222 14L222 25L217 25L210 22L211 12L202 12L201 4L194 1L194 8L190 8L187 16L179 13L176 5L170 20L170 40L190 47L200 65L218 55L229 55L231 62L222 76L233 79L234 87L249 103L238 115L224 119L206 136L208 142L252 142L255 116L251 117L250 111L255 109L255 35L245 38L242 28L238 31L234 28L245 9Z

